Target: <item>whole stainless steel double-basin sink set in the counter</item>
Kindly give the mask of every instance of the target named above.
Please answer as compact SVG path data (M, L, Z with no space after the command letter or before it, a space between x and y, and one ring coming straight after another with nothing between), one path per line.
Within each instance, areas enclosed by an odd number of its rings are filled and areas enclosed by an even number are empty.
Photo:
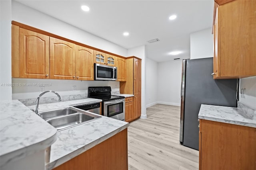
M55 127L57 131L101 118L98 115L81 111L80 109L73 107L41 112L38 113L38 115Z

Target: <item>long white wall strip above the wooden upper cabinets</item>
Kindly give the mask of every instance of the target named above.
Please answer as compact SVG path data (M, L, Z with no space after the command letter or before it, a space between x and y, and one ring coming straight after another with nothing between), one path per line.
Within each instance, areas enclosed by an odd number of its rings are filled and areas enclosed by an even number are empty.
M92 35L82 29L48 16L28 6L12 1L12 20L48 31L50 33L86 44L111 53L126 56L127 49Z

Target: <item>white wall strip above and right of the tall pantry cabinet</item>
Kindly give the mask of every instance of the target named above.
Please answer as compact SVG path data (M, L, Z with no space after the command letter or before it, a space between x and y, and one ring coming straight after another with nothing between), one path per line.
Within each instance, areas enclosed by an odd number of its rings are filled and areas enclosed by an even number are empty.
M146 119L146 104L145 104L145 77L146 77L146 49L145 45L134 47L132 49L128 49L127 56L135 56L140 59L141 61L141 116L140 118Z

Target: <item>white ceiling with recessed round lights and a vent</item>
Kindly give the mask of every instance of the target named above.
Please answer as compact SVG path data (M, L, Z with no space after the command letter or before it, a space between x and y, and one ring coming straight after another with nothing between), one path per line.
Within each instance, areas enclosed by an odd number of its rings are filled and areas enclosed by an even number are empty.
M214 0L16 0L157 62L190 58L190 33L212 26ZM89 12L81 5L90 7ZM177 15L175 20L169 16ZM128 31L128 37L123 32ZM151 39L160 39L148 43ZM183 51L180 55L168 55Z

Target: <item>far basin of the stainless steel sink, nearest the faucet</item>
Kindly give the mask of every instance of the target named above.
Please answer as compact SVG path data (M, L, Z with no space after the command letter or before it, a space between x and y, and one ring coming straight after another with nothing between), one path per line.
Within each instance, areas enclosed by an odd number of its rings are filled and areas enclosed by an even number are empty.
M39 113L39 115L44 120L48 120L48 119L52 119L52 118L55 118L55 117L70 115L70 114L77 113L77 112L78 111L76 111L75 109L72 109L72 108L68 107L68 108L64 108L64 109L42 112L42 113Z

